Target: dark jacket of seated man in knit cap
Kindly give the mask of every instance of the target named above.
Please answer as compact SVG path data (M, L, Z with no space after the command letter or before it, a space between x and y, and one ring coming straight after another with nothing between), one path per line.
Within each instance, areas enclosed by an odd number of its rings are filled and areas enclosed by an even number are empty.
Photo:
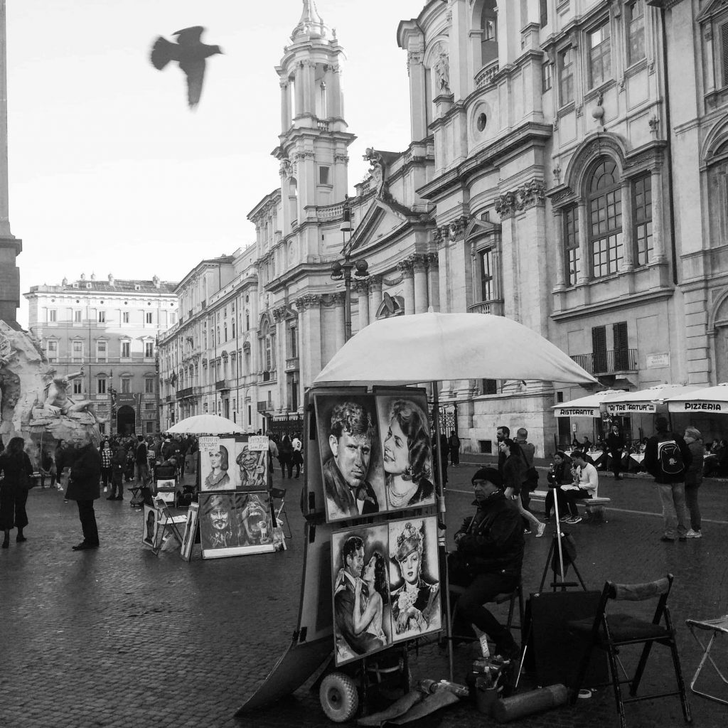
M462 538L458 534L464 534ZM478 504L455 534L454 566L475 574L503 573L518 576L523 563L523 523L518 510L502 492Z

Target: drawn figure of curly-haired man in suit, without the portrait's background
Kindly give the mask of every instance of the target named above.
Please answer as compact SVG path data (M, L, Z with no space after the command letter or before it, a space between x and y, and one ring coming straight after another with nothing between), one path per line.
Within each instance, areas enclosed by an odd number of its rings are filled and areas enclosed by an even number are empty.
M374 432L362 405L344 402L333 408L328 438L332 456L323 466L329 518L379 513L379 501L367 480Z

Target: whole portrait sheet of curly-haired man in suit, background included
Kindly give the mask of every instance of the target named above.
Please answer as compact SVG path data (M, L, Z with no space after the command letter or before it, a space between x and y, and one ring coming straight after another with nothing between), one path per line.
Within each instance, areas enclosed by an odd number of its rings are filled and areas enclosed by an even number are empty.
M327 521L387 510L374 397L318 395L316 416Z

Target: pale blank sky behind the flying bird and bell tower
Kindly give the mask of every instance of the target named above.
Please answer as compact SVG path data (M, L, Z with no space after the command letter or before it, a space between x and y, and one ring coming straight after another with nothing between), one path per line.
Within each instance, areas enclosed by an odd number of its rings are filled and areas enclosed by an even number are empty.
M410 141L400 20L423 0L317 0L347 52L349 191L368 146ZM253 242L248 212L280 185L274 66L301 0L7 0L9 197L20 286L98 277L179 280ZM158 35L204 25L196 111L182 72L157 71ZM22 299L20 323L27 323Z

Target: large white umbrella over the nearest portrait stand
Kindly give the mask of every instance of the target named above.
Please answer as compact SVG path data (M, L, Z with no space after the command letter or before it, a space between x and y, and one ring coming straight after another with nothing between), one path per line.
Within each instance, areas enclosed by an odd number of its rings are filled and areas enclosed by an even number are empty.
M492 314L381 319L349 339L315 384L418 384L443 379L538 379L597 384L543 336Z

